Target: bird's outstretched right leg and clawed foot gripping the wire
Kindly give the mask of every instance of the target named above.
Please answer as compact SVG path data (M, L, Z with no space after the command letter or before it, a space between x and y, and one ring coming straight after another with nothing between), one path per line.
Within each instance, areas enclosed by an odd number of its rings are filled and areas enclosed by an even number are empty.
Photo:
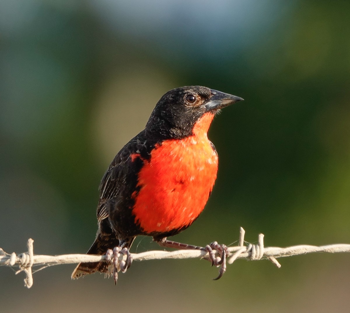
M230 251L228 247L226 247L225 245L219 245L216 241L210 243L210 245L207 245L205 247L187 245L186 243L167 240L167 238L155 239L155 241L158 243L158 245L164 248L204 250L208 252L209 256L204 257L204 259L209 260L211 262L211 265L215 265L216 267L221 265L219 270L219 276L214 278L215 281L221 278L226 271L226 257L230 254ZM213 250L217 251L221 256L215 256Z

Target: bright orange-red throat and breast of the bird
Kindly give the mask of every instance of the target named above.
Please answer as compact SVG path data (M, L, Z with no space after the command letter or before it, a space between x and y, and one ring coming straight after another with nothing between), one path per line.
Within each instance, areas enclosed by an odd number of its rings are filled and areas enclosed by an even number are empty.
M156 145L139 173L133 214L145 233L189 226L202 212L214 186L218 157L207 132L214 114L204 114L193 135Z

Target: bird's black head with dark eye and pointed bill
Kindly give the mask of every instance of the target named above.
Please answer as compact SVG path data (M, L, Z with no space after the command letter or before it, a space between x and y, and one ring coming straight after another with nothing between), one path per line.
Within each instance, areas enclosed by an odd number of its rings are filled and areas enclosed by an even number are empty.
M184 138L192 134L194 124L203 114L215 114L240 100L243 99L201 86L172 89L156 104L146 131L161 138Z

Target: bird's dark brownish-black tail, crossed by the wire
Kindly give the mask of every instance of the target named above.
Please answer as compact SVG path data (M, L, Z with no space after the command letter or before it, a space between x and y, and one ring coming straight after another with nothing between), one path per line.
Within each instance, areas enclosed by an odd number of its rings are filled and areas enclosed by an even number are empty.
M115 238L115 235L107 235L99 233L92 244L91 248L86 254L97 254L104 255L108 249L113 249L119 246L119 240ZM76 279L87 274L92 274L94 272L106 273L107 276L111 275L111 270L109 270L109 264L106 262L85 262L79 263L78 266L73 271L71 278Z

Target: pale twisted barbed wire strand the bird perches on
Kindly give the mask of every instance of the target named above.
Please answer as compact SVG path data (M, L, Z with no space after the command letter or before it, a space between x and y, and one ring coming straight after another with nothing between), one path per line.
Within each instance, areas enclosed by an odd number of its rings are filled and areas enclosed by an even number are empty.
M310 245L298 245L286 248L280 247L264 247L264 235L259 234L258 244L253 245L247 243L244 244L245 231L240 227L240 234L238 240L238 246L228 247L230 254L228 255L226 262L232 264L237 259L247 260L262 260L267 259L271 261L276 267L280 268L281 264L276 260L279 257L315 253L315 252L328 252L328 253L344 253L350 252L349 244L333 244L326 246L310 246ZM59 264L74 264L80 262L106 262L105 255L87 255L87 254L63 254L63 255L35 255L33 253L33 239L28 239L27 248L28 251L16 255L6 253L0 248L0 265L19 267L19 270L15 274L24 272L26 278L24 279L25 286L30 288L33 285L33 273L42 270L48 266ZM218 254L218 253L217 253ZM141 253L132 253L134 261L146 261L146 260L161 260L161 259L193 259L208 257L208 252L204 250L176 250L176 251L163 251L153 250ZM218 256L219 258L219 256ZM119 254L119 262L125 261L126 256ZM32 271L33 267L39 267L35 271Z

